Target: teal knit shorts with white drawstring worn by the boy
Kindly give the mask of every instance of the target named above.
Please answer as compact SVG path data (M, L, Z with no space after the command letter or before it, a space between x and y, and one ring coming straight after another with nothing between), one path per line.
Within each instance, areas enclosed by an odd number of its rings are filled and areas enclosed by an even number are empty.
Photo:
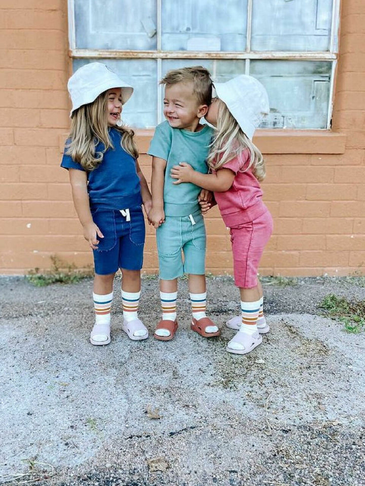
M162 280L173 280L184 273L205 274L206 233L200 211L190 216L166 216L156 230L156 239Z

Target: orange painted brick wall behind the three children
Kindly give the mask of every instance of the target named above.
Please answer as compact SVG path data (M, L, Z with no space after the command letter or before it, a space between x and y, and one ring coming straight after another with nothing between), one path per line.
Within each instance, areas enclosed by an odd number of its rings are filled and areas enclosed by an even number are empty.
M67 2L0 0L0 273L50 267L50 255L92 262L71 202L60 145L68 130ZM365 269L365 2L346 0L333 135L260 132L266 154L264 198L275 223L264 275L348 275ZM150 179L139 133L140 163ZM207 271L231 273L227 230L214 208L206 218ZM144 271L157 271L148 227Z

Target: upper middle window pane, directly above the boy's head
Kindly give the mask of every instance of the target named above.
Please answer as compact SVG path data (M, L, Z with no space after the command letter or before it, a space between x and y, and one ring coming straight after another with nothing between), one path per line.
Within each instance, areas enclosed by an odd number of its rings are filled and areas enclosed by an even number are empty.
M247 0L162 0L162 49L244 51Z

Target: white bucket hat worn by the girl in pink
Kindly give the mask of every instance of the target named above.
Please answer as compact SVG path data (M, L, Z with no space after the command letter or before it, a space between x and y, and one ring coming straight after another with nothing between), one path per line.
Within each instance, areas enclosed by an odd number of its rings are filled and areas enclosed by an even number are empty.
M252 140L255 129L270 111L264 86L252 76L241 74L226 83L214 83L218 98L224 101L245 135Z

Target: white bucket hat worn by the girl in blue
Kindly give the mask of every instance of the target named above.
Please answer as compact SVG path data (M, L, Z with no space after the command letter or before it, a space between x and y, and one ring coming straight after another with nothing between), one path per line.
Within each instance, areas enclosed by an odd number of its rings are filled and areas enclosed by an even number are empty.
M133 88L122 81L118 74L101 62L90 62L80 67L68 80L67 89L72 101L70 117L83 104L92 103L99 94L112 88L121 88L122 101L132 96Z

